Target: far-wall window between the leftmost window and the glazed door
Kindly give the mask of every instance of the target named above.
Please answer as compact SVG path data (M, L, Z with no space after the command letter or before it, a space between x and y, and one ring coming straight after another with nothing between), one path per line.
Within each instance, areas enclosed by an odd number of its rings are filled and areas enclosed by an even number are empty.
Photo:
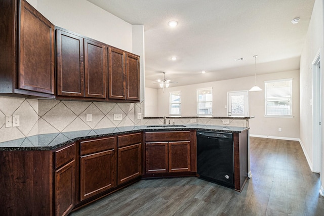
M212 115L212 88L197 89L197 115Z

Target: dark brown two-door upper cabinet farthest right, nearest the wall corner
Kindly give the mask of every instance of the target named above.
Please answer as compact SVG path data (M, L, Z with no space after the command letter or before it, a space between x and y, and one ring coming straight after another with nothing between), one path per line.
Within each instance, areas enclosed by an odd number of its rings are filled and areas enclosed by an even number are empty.
M109 99L139 101L139 56L108 47Z

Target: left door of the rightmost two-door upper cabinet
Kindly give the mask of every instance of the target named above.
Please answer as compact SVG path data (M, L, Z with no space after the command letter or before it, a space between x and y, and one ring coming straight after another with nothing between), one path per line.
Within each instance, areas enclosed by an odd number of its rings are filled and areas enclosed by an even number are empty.
M109 99L126 99L125 52L108 48Z

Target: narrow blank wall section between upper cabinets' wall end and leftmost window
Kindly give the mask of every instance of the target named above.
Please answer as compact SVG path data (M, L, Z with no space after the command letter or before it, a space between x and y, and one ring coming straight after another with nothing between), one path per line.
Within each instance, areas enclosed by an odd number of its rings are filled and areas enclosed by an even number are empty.
M145 117L157 117L157 89L145 88Z

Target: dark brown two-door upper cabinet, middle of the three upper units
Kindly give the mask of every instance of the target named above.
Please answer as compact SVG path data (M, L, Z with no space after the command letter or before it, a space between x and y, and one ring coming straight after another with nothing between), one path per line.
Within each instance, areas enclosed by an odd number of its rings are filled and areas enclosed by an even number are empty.
M57 95L107 97L107 54L101 42L56 29Z

